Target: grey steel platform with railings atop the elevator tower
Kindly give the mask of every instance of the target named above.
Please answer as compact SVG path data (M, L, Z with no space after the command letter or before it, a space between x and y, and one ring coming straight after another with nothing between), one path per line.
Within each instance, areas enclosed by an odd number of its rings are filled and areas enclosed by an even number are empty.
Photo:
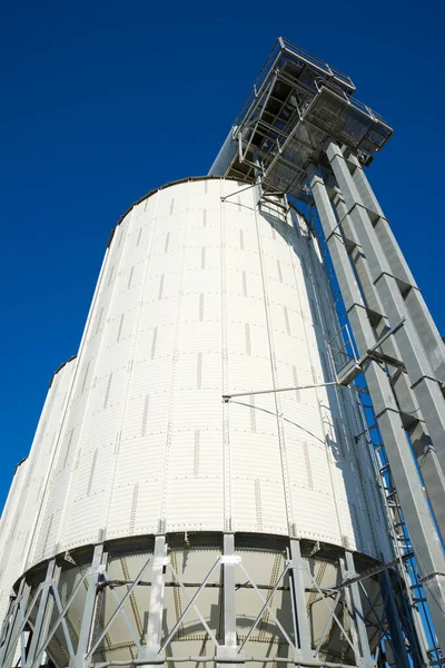
M327 138L372 160L393 134L354 97L350 77L279 37L247 96L210 174L254 181L298 197Z

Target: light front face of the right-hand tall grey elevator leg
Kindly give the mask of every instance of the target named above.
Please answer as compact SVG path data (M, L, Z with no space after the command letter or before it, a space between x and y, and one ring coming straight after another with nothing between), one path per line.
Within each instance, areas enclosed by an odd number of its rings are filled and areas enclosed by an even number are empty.
M365 252L374 285L377 288L389 324L396 326L402 318L406 318L404 326L396 332L395 340L426 426L436 448L442 470L445 472L444 396L425 355L422 342L408 317L396 278L385 258L367 210L360 203L344 155L333 140L327 143L326 153L348 207L355 232Z

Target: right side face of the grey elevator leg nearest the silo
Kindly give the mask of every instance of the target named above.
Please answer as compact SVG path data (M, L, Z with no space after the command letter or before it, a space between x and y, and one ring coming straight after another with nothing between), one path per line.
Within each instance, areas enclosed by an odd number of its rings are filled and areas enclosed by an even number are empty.
M342 193L338 189L334 195L334 206L337 212L339 226L347 239L347 245L354 244L354 249L348 249L349 257L352 258L366 305L379 316L379 322L375 323L374 330L377 337L382 336L385 333L385 328L389 326L388 321L384 315L383 304L373 283L369 266L366 262L366 257L359 244L356 230L347 213L347 206L342 197ZM396 360L400 360L402 357L393 337L389 337L384 344L382 344L382 351L385 354L395 357ZM409 434L413 450L417 459L417 464L421 469L437 524L442 536L445 539L444 471L442 470L437 452L426 429L416 396L411 389L407 374L402 371L396 371L393 373L392 385L396 395L397 404L404 414L404 426Z

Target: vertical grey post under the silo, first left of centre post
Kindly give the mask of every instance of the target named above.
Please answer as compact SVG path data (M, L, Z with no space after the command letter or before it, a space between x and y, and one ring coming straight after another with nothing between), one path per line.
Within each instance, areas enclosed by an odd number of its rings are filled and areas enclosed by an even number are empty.
M164 589L167 543L165 536L155 539L150 602L148 611L146 639L147 645L139 650L138 658L147 659L147 664L164 662L165 651L160 652L162 640Z

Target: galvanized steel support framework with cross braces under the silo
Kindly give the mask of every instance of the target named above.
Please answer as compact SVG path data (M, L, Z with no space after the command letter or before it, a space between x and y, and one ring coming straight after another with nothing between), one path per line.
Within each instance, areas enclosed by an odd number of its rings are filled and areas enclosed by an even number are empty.
M235 536L233 533L227 533L224 536L222 546L222 554L217 557L216 561L212 563L207 573L202 573L200 584L194 596L188 598L188 598L187 605L181 611L175 626L168 631L168 633L162 633L161 630L166 574L170 572L174 580L181 588L182 592L186 592L186 586L179 578L167 556L168 543L166 536L156 537L154 554L149 554L147 559L145 559L136 579L131 582L127 582L128 589L121 598L119 598L116 593L112 587L112 581L107 572L108 554L103 544L98 544L95 547L90 566L83 570L82 577L79 578L65 607L61 603L60 593L58 590L58 581L62 570L62 561L60 559L51 559L48 562L44 579L42 582L40 582L40 584L38 584L36 593L31 600L29 600L31 583L27 574L18 583L17 597L11 599L9 612L6 617L0 635L0 667L12 668L16 648L18 642L20 642L20 660L18 665L23 668L38 668L41 665L43 652L48 650L51 639L58 631L59 627L61 627L67 654L69 655L69 668L106 668L106 666L123 665L159 666L165 661L185 662L188 660L192 660L197 664L214 662L221 667L226 665L241 665L245 662L264 662L268 665L281 662L305 666L308 668L322 668L323 666L328 668L339 668L340 664L327 662L319 657L319 651L323 647L326 632L332 623L336 623L338 626L353 650L355 662L348 665L356 668L359 666L365 666L367 668L376 667L376 658L372 656L368 645L363 612L363 600L365 599L362 598L363 595L360 593L362 580L366 577L369 577L372 573L365 572L360 574L356 572L354 554L350 551L345 550L343 557L339 558L343 583L340 586L333 586L330 589L322 589L307 569L307 566L301 558L299 541L296 539L289 539L287 551L288 559L285 563L285 567L278 576L273 589L267 596L265 596L261 592L261 586L258 586L254 581L244 566L243 557L236 553ZM392 564L388 566L390 567ZM246 583L248 583L249 587L256 591L260 602L259 612L256 619L253 621L250 628L246 631L243 642L239 642L236 631L236 567L240 568L244 578L246 578ZM137 629L132 626L131 620L128 618L125 611L125 603L136 587L138 587L139 583L142 583L142 577L149 569L151 569L151 587L146 622L147 628L145 632L146 644L142 644L140 638L138 638ZM224 620L224 644L218 642L218 639L207 625L206 619L198 607L200 593L204 591L211 574L217 569L220 569L221 571L222 581L221 588L224 602L221 612ZM316 648L310 646L310 633L308 626L309 618L306 610L305 591L307 591L307 589L305 589L305 571L308 573L313 584L309 590L318 592L319 597L317 600L323 600L329 610L325 632L322 635ZM386 574L387 572L388 571L386 571ZM271 608L274 593L286 576L288 577L290 588L293 637L290 637L285 630ZM86 581L88 582L88 589L83 606L80 633L77 646L75 647L76 642L72 641L72 637L70 636L68 629L67 616L70 611L72 601L79 592L79 589L82 587L82 584L85 584ZM146 584L146 582L144 582L144 584ZM106 626L101 629L100 633L93 637L95 620L98 613L97 596L98 592L105 587L111 591L111 596L116 600L116 609L113 610ZM392 596L394 601L394 592L392 592ZM386 591L386 593L384 592L384 598L385 600L388 599L388 591ZM343 599L343 606L346 607L348 617L350 619L350 633L345 629L336 613L336 606L340 599ZM55 605L57 606L58 616L56 621L53 621L52 626L50 627L51 611ZM176 637L176 633L180 628L187 612L191 608L195 609L204 629L215 646L214 655L198 657L167 656L166 650L170 647L170 644ZM30 617L33 611L36 621L32 625L30 622ZM280 630L280 633L287 642L290 649L289 658L271 656L253 657L246 654L246 646L248 645L249 638L261 620L265 611L267 611L270 618L274 619L275 625ZM119 616L123 618L129 636L134 639L134 645L137 652L136 658L126 661L95 661L95 652L106 637L109 628ZM398 665L407 668L409 660L406 647L403 644L403 637L397 630L395 633L398 633L399 637L394 635L394 628L392 628L394 625L390 623L389 616L390 611L388 613L386 610L378 620L379 637L385 636L387 639L389 639L392 647L394 648L395 656L400 656L400 662ZM385 628L387 625L389 625L389 631ZM422 666L422 664L416 660L416 657L413 658L413 665L416 668Z

